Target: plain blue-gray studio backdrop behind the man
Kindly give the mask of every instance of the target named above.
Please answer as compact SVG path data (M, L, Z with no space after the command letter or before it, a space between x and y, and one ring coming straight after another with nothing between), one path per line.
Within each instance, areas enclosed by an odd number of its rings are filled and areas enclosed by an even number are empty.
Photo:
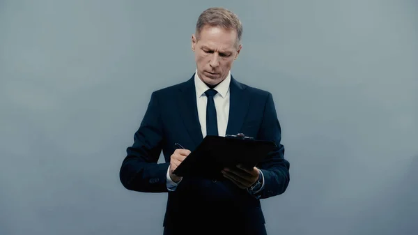
M160 234L118 179L150 93L195 70L196 19L244 24L233 75L272 92L291 183L269 234L417 234L417 1L0 1L0 234Z

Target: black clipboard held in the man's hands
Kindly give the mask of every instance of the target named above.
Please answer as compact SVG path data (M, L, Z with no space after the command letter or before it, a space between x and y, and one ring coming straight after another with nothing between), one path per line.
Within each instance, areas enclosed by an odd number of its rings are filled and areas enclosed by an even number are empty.
M225 137L207 135L178 165L173 174L225 181L226 178L221 172L224 167L242 164L244 167L253 168L273 151L274 147L274 142L245 137L242 133Z

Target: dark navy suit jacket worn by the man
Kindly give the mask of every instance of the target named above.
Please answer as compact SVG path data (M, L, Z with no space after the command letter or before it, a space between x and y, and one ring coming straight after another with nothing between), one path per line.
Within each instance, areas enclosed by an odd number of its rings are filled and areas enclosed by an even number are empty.
M168 192L164 226L190 224L263 225L260 199L285 192L289 183L289 162L284 159L281 128L271 93L237 82L231 76L230 111L226 135L274 141L277 148L257 165L265 186L259 197L250 195L231 181L187 179L176 191L167 190L167 169L176 146L193 151L203 140L196 107L194 76L187 82L154 91L144 119L127 148L120 179L128 190ZM157 164L163 151L166 163ZM144 212L145 213L145 212Z

